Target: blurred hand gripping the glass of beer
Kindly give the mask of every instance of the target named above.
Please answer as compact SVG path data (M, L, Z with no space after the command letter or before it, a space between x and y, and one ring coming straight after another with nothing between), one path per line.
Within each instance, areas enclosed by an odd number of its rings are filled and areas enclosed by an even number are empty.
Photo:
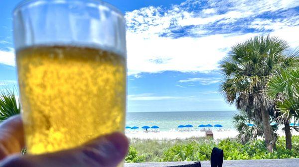
M122 133L96 138L77 148L42 155L21 155L23 124L19 115L0 123L0 167L117 167L128 153Z

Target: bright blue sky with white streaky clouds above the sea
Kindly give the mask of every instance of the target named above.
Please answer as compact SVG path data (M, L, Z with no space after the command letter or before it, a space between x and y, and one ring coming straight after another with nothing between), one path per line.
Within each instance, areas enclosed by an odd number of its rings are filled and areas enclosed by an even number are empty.
M16 85L13 7L0 0L0 86ZM299 0L106 0L127 21L128 112L228 111L219 62L255 35L299 46Z

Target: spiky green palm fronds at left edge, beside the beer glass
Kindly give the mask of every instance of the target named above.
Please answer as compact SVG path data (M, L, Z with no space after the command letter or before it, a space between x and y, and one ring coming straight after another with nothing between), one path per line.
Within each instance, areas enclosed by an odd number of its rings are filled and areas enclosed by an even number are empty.
M0 91L0 122L20 113L20 101L15 98L13 90L4 88Z

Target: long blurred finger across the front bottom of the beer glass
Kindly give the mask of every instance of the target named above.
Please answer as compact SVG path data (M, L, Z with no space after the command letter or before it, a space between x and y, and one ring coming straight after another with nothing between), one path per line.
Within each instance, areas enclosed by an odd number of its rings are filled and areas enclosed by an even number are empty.
M82 147L44 155L14 156L0 167L116 167L128 153L122 133L99 137Z

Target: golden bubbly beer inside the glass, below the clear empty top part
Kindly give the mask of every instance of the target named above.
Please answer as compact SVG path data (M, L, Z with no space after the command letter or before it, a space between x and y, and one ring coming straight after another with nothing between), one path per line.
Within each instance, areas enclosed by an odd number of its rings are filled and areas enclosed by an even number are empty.
M18 50L16 60L30 154L124 131L124 56L88 47L33 46Z

